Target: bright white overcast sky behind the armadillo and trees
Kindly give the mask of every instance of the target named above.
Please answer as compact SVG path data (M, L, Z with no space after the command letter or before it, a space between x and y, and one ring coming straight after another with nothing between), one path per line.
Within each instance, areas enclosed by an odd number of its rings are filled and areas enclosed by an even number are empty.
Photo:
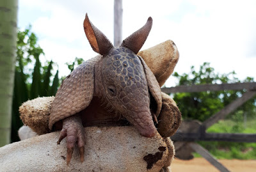
M97 55L83 30L85 14L113 42L114 0L19 0L18 27L31 24L44 49L42 61L58 63L60 75L68 75L66 62ZM180 59L174 72L188 73L204 62L241 80L255 77L256 1L228 0L123 0L123 39L140 29L148 17L153 26L142 49L166 40L177 45ZM56 69L55 69L56 70ZM166 86L175 86L170 77Z

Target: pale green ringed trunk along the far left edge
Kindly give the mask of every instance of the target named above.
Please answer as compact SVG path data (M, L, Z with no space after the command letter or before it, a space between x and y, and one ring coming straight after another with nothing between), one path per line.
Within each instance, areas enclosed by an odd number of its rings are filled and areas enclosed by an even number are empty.
M17 0L0 1L0 147L10 143Z

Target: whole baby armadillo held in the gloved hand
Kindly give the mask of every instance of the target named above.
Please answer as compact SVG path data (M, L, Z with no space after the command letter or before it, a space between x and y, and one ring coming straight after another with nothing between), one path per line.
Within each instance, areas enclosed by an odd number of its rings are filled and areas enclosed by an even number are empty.
M153 137L154 120L161 111L159 83L145 61L136 54L147 40L152 18L114 47L108 38L84 19L84 32L99 56L77 66L62 82L52 102L49 129L62 127L58 140L67 137L67 164L78 145L84 160L83 127L121 125L127 120L141 136Z

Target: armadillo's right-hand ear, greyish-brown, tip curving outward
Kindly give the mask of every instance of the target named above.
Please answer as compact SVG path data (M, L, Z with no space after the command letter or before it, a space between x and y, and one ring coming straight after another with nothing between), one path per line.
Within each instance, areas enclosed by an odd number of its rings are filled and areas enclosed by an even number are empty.
M148 34L152 27L152 18L148 17L147 23L141 27L138 31L132 33L132 35L128 36L123 42L122 47L127 47L135 54L137 54L142 45L147 40Z

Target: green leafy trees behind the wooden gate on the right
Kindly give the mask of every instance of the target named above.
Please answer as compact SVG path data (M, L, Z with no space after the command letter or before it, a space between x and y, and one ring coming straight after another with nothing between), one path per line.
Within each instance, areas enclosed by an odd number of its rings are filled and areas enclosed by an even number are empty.
M235 72L216 74L214 68L212 68L209 63L201 65L198 72L196 72L194 66L191 66L191 72L189 72L189 74L179 75L177 72L174 73L174 76L179 79L179 85L241 82L235 75ZM243 82L253 82L253 78L247 77ZM212 114L217 113L223 107L230 104L230 102L234 101L237 97L241 97L243 93L244 90L176 93L174 94L173 99L177 102L179 109L182 112L182 118L204 121ZM252 98L237 110L248 112L249 116L256 116L255 102L256 98ZM234 114L236 114L236 112Z

